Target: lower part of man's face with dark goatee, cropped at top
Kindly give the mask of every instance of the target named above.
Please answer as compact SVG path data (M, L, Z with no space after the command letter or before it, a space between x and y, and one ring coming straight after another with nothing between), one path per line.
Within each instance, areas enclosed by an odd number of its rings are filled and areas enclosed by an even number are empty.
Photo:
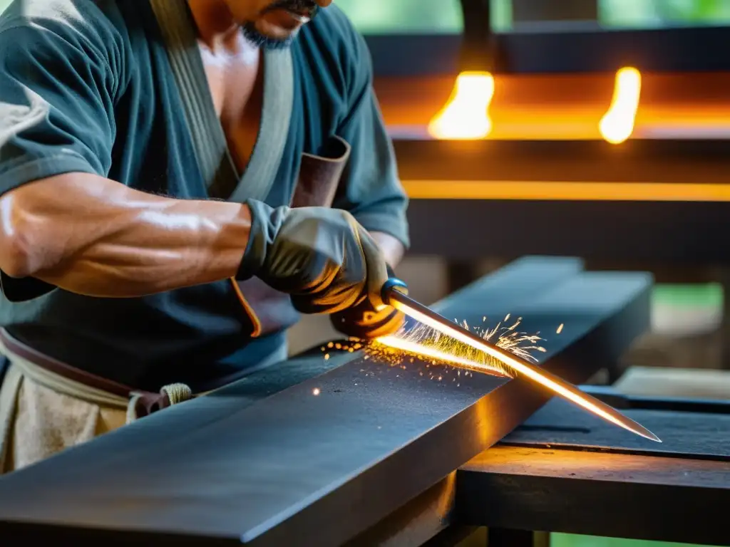
M291 44L302 25L332 0L226 0L245 36L258 46L275 49Z

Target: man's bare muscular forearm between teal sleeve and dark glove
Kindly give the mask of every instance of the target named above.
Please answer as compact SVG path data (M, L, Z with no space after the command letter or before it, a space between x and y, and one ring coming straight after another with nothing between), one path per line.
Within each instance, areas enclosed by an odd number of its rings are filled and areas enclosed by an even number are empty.
M239 203L166 198L90 174L0 199L0 268L65 290L134 297L233 276L250 231Z

